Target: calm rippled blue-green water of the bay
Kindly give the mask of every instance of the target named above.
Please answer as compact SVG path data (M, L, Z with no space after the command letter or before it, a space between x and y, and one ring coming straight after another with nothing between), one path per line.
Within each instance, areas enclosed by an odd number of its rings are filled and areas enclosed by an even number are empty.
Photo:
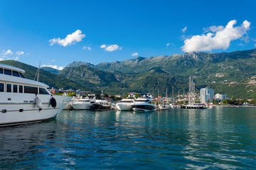
M63 111L0 136L0 169L256 169L256 108Z

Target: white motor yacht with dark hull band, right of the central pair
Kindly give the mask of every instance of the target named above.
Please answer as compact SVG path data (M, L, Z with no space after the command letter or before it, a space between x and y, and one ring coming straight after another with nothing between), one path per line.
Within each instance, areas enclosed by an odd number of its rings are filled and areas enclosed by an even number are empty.
M137 98L132 106L133 111L154 111L155 106L151 103L152 96L144 95L142 98Z

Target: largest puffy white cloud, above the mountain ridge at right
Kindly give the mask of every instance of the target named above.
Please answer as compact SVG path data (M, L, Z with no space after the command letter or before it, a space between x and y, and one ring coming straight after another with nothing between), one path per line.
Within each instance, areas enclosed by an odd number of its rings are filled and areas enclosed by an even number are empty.
M184 40L184 45L181 48L184 52L226 50L232 40L242 38L247 30L250 30L249 21L245 20L241 26L234 27L236 23L237 21L233 20L225 28L221 28L221 26L209 28L213 33L193 35L191 38Z

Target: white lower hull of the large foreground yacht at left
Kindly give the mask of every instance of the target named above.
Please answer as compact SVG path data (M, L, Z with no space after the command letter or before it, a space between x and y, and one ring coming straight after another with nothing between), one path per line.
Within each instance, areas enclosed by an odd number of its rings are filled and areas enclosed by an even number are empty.
M42 108L36 106L35 94L10 94L0 100L0 126L35 123L54 118L70 101L70 96L53 96L57 103L53 108L50 104L50 95L38 94Z

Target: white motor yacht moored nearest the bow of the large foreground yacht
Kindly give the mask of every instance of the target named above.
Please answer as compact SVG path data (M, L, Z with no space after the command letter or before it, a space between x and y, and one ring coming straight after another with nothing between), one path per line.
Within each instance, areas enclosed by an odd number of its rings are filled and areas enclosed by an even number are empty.
M76 99L70 104L75 110L89 110L92 108L92 105L95 103L95 96L87 96L86 98Z

